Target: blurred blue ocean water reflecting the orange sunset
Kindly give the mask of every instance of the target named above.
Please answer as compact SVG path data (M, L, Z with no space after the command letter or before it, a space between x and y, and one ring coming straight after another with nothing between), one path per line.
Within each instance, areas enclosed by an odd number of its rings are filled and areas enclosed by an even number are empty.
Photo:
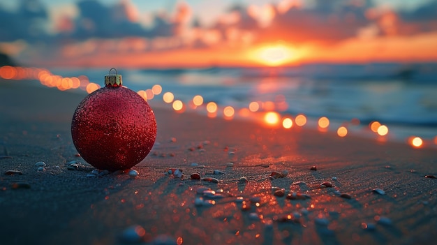
M103 84L105 69L52 70L87 75ZM361 128L380 121L390 138L437 135L437 64L308 64L286 68L120 69L134 91L154 84L184 103L200 94L205 102L236 109L251 101L272 101L281 114L328 117L332 126L359 119ZM161 94L162 96L162 94ZM161 100L156 96L154 100ZM359 127L360 128L360 127ZM357 131L362 131L357 130Z

